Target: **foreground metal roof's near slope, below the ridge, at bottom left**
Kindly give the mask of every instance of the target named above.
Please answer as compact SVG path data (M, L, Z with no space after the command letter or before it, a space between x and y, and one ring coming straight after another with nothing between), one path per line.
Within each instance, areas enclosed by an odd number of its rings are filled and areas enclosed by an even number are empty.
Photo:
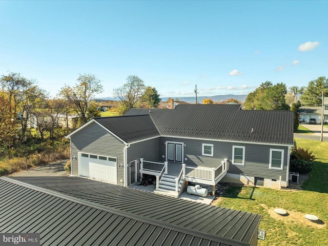
M40 233L40 245L248 245L8 178L0 197L0 232Z

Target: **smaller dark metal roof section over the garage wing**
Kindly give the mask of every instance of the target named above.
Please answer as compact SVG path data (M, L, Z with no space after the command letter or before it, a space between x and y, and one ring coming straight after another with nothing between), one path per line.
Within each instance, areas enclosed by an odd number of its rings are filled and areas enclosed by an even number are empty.
M126 142L159 136L149 115L99 117L94 120Z

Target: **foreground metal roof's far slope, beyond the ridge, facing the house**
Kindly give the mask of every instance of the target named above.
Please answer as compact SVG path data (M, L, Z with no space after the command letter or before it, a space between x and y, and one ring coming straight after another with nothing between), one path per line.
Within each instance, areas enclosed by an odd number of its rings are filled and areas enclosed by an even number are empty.
M257 235L261 219L261 215L258 214L171 198L80 177L14 179L67 197L91 202L96 206L114 209L122 214L136 216L134 218L171 225L186 234L198 232L199 235L214 237L218 242L228 245L250 245L254 234Z

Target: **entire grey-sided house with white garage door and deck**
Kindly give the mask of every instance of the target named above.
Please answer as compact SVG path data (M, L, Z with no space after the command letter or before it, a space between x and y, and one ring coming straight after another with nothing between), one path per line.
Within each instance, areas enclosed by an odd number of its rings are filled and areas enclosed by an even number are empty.
M153 175L156 192L176 197L188 182L280 188L289 185L293 112L178 105L94 118L67 137L73 176L131 186Z

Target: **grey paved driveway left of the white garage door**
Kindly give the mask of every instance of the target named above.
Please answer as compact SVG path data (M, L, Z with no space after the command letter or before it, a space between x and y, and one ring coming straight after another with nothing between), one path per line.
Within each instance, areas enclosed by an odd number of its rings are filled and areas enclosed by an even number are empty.
M61 160L58 162L50 163L49 165L45 165L42 167L37 167L33 169L29 169L27 171L23 171L14 175L10 175L11 177L40 177L40 176L69 176L64 167L68 160Z

